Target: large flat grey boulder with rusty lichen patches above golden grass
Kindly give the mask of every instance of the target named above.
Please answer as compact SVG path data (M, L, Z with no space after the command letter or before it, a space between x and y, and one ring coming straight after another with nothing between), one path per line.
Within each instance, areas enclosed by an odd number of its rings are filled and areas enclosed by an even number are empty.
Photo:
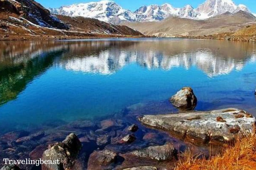
M228 108L209 112L144 115L144 125L201 138L205 141L230 141L253 132L255 118L240 109Z

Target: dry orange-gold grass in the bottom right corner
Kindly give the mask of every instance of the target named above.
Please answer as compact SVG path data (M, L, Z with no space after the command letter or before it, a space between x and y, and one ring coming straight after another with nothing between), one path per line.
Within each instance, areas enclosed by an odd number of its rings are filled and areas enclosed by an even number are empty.
M176 170L256 170L256 135L236 140L222 154L208 160L188 151L181 156Z

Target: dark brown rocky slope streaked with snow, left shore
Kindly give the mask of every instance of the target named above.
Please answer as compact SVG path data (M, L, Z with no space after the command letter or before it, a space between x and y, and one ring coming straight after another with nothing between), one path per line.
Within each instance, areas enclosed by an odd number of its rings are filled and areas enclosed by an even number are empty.
M33 0L1 0L0 6L0 39L143 36L127 26L97 19L52 15Z

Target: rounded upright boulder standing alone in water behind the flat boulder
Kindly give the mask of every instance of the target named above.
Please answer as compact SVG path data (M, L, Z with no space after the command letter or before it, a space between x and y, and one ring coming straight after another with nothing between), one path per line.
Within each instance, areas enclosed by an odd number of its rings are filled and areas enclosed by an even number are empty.
M183 87L170 98L170 102L182 111L191 111L197 105L197 98L190 87Z

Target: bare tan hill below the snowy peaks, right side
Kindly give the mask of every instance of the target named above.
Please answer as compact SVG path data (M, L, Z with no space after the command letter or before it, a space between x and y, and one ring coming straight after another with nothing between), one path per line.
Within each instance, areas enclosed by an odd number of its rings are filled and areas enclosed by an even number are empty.
M199 36L224 32L235 32L248 24L255 23L256 17L239 11L235 14L226 12L209 19L196 20L171 16L160 22L124 23L145 35L160 37Z

